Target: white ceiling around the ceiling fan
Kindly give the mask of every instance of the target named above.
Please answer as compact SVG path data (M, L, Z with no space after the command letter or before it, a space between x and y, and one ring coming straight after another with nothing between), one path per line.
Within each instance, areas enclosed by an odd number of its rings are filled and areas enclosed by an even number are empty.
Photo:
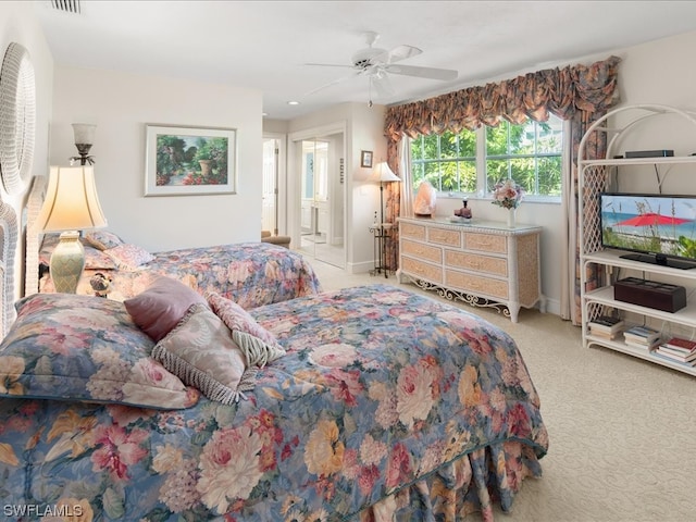
M279 120L369 101L364 76L307 95L353 74L307 64L349 65L366 47L368 30L381 35L375 47L406 44L423 51L405 65L459 72L453 82L391 75L394 96L372 92L382 104L696 30L696 1L82 0L79 7L74 14L35 2L57 64L260 89L268 117Z

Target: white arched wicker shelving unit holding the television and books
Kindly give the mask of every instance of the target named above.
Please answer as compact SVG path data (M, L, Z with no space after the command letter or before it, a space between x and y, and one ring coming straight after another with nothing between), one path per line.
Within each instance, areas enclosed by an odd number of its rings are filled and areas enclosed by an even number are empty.
M607 121L622 111L633 111L630 114L637 114L627 125L621 128L607 126ZM663 114L673 114L684 117L694 125L696 134L696 114L675 109L668 105L629 105L607 113L601 120L589 127L580 144L579 151L579 215L580 222L580 272L581 272L581 301L582 301L582 337L583 346L598 345L612 350L621 351L633 357L637 357L656 364L678 370L696 376L696 368L671 362L669 360L654 356L647 348L635 348L626 345L622 338L607 339L592 335L588 322L605 313L607 309L619 311L621 315L632 314L643 320L643 322L660 322L660 324L685 327L696 337L696 300L689 299L694 288L696 288L696 270L680 270L658 264L642 263L623 259L620 256L626 252L604 249L601 245L601 225L599 208L599 194L609 190L612 173L618 167L630 171L638 165L654 165L656 172L668 170L674 165L693 165L696 172L696 157L655 157L655 158L614 158L614 148L621 137L633 130L635 125L646 119ZM605 133L607 137L607 159L587 160L584 159L585 148L593 133ZM617 174L618 175L618 174ZM659 179L659 175L658 175ZM629 190L630 191L630 190ZM596 289L587 289L587 273L591 264L597 265L604 271L605 286ZM642 307L625 301L614 299L612 277L618 270L625 270L642 274L643 278L661 281L660 276L671 281L679 281L679 284L686 287L687 306L674 313ZM639 321L638 321L639 322Z

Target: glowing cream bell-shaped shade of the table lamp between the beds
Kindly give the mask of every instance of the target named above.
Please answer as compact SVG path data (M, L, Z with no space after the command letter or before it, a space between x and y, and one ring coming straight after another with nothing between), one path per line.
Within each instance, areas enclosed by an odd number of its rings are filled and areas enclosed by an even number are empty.
M107 226L91 166L51 166L37 226L42 232L84 231Z

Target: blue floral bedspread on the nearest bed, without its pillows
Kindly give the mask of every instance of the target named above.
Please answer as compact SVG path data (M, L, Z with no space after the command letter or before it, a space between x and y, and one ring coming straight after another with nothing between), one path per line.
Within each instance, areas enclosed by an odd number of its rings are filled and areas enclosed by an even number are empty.
M5 509L70 506L87 522L489 519L492 499L509 509L540 475L539 398L496 326L386 285L251 314L287 355L236 405L0 399Z

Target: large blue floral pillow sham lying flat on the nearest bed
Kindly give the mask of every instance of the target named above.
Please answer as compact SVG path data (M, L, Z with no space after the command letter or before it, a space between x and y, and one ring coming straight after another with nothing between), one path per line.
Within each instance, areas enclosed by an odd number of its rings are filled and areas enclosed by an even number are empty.
M200 391L150 355L154 341L121 302L34 294L0 344L0 397L183 409Z

